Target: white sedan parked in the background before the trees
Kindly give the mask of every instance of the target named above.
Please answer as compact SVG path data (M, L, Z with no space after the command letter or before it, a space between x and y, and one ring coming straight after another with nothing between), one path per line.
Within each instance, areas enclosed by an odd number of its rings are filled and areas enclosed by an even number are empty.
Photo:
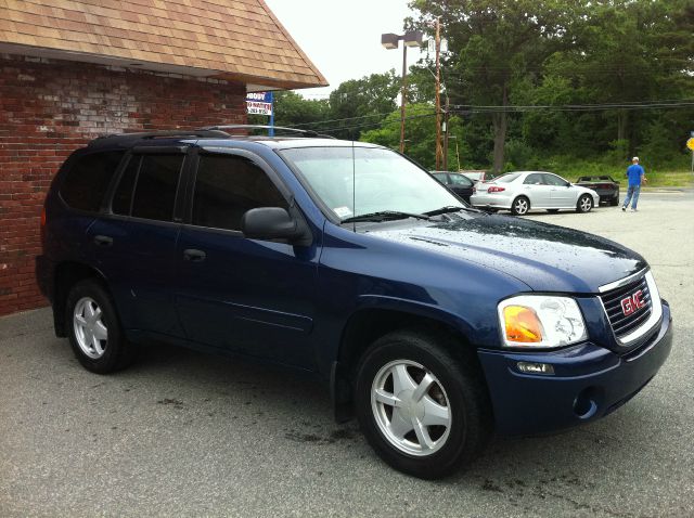
M574 185L552 172L507 172L493 181L479 182L475 187L477 192L470 198L473 206L511 210L516 216L523 216L531 209L589 212L600 203L595 191Z

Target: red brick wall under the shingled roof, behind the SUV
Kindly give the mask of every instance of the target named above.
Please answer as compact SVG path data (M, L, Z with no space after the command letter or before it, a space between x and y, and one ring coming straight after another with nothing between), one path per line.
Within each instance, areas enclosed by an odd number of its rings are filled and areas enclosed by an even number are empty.
M126 129L243 124L245 86L0 54L0 315L47 305L35 282L46 192L74 150Z

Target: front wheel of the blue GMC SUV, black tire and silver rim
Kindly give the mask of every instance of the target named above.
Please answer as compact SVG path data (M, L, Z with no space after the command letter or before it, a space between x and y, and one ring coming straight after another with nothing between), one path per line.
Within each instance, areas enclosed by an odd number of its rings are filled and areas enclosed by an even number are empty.
M449 352L455 350L451 348L465 351L464 345L448 335L422 331L395 332L376 340L364 352L356 371L356 413L367 440L387 464L414 477L436 479L449 475L461 464L474 458L491 435L491 404L476 359L470 354L468 360L461 361ZM439 404L439 409L447 409L450 426L426 424L424 419L430 419L429 414L426 411L417 414L417 403L410 406L404 404L397 411L395 406L390 406L388 417L387 405L378 406L377 400L372 401L374 386L382 379L388 379L387 374L386 377L382 374L383 371L389 365L398 365L398 362L409 362L423 367L421 370L415 365L406 366L410 381L420 383L425 374L432 376L429 379L436 380L421 397L421 401L426 402L428 409L432 407L432 402ZM417 373L421 376L419 381ZM390 390L395 396L395 374L390 376ZM383 390L387 392L386 387L387 385ZM399 398L402 402L413 401L415 392L416 389L410 392L412 400ZM375 391L373 393L375 398ZM406 392L398 391L398 394ZM438 399L434 401L433 398ZM430 444L436 444L430 451L428 448L422 448L420 436L414 430L415 420L412 415L423 419L426 437L432 441ZM388 431L384 430L395 429L396 419L400 416L404 429L412 423L412 430L404 433L402 439L398 440L394 433L390 433L389 438ZM419 446L421 451L410 453L403 450L406 446L409 450Z

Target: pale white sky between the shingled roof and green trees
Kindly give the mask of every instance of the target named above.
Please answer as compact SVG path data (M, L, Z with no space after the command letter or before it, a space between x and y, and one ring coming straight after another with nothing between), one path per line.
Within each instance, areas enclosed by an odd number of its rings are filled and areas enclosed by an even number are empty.
M414 13L408 0L266 0L301 50L330 82L327 88L303 89L309 99L322 99L348 79L402 70L398 50L381 47L383 33L402 34L402 21ZM408 49L408 66L419 60Z

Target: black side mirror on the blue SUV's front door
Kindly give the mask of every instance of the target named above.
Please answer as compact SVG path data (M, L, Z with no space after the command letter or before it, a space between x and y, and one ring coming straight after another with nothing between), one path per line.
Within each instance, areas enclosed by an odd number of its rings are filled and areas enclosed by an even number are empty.
M241 232L252 239L286 239L296 245L311 243L310 232L303 221L292 218L282 207L259 207L241 218Z

